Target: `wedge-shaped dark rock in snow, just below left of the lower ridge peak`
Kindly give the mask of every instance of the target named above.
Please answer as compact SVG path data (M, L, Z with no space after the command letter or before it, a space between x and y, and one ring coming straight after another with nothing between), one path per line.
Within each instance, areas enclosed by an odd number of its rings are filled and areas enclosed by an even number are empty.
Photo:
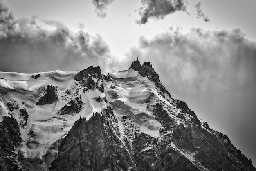
M78 98L74 98L68 102L61 110L58 111L58 115L72 115L78 113L83 109L83 102Z

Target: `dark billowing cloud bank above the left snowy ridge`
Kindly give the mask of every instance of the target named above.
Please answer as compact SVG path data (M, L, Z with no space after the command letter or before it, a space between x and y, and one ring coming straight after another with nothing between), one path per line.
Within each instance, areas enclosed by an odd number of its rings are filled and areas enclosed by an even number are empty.
M15 19L0 3L0 71L79 70L90 65L105 71L115 61L100 35L82 29L73 33L60 21L36 16Z

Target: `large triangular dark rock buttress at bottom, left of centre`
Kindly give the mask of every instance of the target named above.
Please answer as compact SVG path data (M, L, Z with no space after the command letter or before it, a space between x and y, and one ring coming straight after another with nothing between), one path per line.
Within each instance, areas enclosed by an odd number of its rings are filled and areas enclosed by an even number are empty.
M59 147L53 171L118 171L134 167L130 155L107 120L111 108L77 120Z

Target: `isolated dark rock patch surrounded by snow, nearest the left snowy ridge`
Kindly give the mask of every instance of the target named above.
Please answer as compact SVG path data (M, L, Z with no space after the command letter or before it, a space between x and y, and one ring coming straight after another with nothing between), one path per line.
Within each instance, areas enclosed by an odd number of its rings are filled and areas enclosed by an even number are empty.
M52 104L53 102L56 102L58 100L57 93L58 89L56 86L47 85L46 89L44 89L41 93L38 102L36 102L36 105L42 106L45 104Z

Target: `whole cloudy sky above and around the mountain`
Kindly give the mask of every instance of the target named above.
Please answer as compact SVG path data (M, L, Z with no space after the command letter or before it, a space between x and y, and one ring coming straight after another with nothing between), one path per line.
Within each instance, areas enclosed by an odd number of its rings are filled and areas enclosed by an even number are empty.
M150 61L172 98L256 166L255 0L0 0L0 71Z

